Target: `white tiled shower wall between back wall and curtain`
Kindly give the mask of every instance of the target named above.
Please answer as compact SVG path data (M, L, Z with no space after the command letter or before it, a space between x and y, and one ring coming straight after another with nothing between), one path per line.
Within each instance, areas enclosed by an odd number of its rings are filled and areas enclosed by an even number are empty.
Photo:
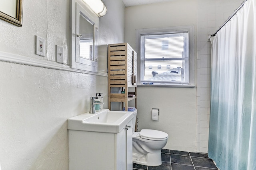
M211 94L211 43L208 38L243 1L198 0L197 152L208 152Z

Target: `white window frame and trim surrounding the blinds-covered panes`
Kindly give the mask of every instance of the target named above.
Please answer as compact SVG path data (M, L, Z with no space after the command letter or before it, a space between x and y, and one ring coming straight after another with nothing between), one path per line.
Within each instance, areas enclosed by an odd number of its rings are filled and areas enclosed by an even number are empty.
M142 84L140 78L140 42L142 34L154 34L154 33L175 33L187 31L188 32L188 84L172 84L172 83L154 83L154 84ZM194 87L194 26L179 26L179 27L163 27L163 28L146 28L136 29L136 51L138 52L138 84L137 86L175 86L175 87Z

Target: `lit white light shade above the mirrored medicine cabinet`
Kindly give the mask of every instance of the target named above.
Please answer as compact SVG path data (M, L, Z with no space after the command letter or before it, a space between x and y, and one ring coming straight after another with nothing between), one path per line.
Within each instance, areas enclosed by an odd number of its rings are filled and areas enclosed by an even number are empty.
M99 16L106 15L107 8L101 0L83 0Z

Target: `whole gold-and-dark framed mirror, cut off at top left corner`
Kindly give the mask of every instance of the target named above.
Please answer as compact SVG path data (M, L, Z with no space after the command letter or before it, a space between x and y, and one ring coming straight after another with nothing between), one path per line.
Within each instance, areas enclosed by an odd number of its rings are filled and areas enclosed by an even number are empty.
M0 0L0 19L22 27L23 0Z

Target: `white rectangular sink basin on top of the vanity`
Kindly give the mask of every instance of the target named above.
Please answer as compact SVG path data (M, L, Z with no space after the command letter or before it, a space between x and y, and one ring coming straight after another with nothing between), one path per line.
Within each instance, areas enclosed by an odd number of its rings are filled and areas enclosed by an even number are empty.
M94 114L84 113L68 119L69 130L119 133L132 120L134 111L102 109Z

